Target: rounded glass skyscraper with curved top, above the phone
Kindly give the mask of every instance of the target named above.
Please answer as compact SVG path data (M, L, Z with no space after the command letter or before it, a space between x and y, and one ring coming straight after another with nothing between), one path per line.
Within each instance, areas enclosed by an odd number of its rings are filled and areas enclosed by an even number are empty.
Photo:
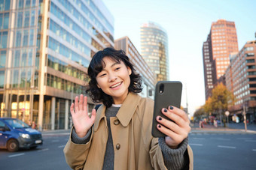
M166 31L154 22L141 27L142 57L156 74L157 81L169 79L168 37Z

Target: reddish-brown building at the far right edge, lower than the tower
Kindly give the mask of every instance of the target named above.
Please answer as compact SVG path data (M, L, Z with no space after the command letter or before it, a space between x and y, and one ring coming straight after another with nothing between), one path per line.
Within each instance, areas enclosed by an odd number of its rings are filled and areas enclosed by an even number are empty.
M256 41L248 41L245 46L230 60L226 70L226 85L236 97L230 103L230 115L243 119L245 110L248 121L256 118Z

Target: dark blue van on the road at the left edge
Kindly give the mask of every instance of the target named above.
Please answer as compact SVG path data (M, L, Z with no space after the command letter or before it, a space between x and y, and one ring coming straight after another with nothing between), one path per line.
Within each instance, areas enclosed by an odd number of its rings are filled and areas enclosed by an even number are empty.
M0 148L15 152L20 148L43 145L41 132L17 118L0 118Z

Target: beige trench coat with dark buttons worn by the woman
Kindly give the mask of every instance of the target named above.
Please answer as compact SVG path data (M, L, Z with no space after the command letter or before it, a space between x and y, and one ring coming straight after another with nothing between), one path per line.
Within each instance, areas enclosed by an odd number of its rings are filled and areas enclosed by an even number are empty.
M105 106L99 107L90 141L78 145L71 141L64 148L66 162L72 169L102 169L108 126ZM116 117L110 118L114 145L114 169L166 169L158 139L151 136L154 101L129 93ZM193 152L187 151L190 169L193 169Z

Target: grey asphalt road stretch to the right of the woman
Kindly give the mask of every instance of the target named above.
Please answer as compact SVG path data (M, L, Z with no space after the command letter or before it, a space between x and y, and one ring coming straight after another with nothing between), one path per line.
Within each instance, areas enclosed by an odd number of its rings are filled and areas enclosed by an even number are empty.
M255 134L192 133L194 169L256 169Z

